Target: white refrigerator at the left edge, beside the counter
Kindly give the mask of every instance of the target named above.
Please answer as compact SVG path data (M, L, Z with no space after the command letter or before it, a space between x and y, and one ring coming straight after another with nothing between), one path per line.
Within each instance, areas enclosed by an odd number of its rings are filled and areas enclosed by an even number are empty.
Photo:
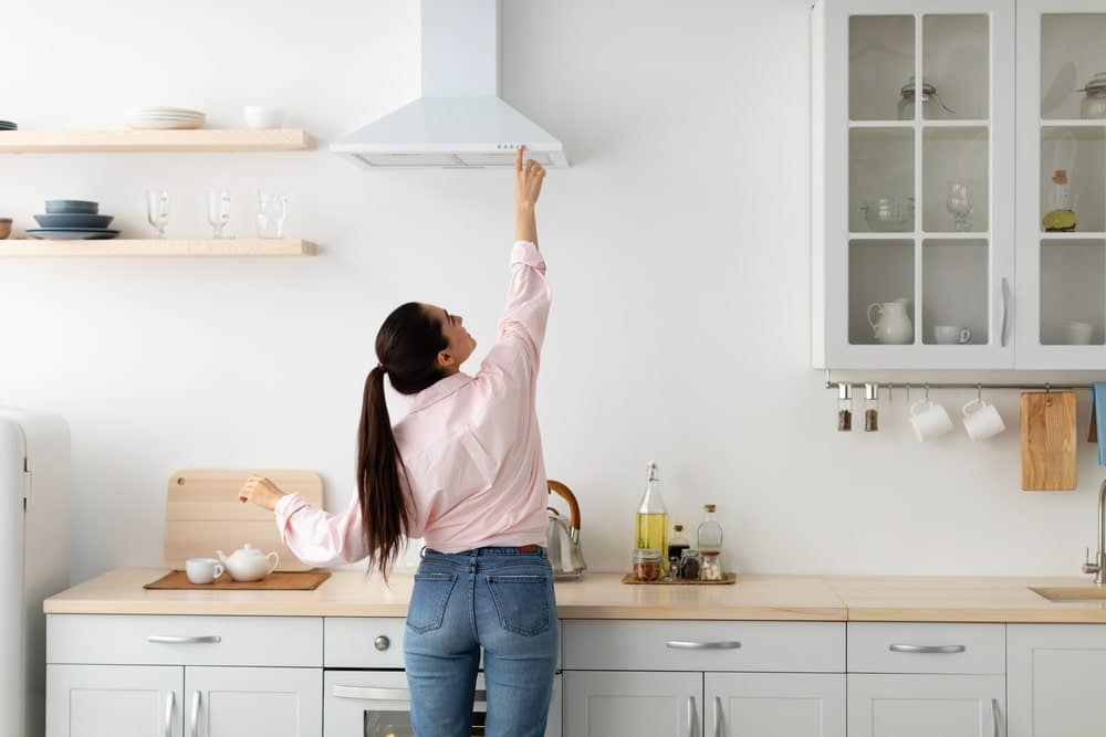
M0 735L42 737L46 619L70 585L70 433L55 414L0 408Z

